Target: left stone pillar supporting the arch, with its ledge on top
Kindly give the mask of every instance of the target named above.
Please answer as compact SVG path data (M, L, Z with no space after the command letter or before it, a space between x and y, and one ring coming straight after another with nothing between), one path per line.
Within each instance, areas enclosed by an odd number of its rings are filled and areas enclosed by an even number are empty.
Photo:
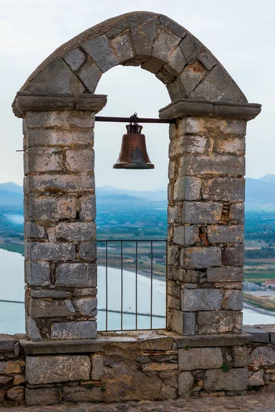
M16 101L24 117L26 331L33 341L89 339L97 331L95 98L77 105L71 96L70 107L46 97Z

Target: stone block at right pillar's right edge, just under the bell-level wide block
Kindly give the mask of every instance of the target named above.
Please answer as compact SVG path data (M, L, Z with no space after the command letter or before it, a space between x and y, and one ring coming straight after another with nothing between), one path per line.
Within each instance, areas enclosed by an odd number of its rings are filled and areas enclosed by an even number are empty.
M242 202L245 198L245 180L230 177L209 179L203 188L202 198L213 201Z

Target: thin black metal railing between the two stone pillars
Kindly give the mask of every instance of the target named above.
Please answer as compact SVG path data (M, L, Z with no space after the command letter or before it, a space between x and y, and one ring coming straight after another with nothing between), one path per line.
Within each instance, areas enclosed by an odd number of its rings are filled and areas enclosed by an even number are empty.
M167 241L97 240L97 253L98 330L166 328Z

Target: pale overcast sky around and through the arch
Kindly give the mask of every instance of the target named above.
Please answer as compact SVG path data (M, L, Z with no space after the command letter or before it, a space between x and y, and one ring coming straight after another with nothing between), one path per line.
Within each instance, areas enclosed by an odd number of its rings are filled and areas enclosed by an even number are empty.
M137 5L138 4L138 5ZM166 14L210 49L251 103L262 113L248 122L247 174L275 173L273 0L0 0L1 150L0 183L23 180L21 119L11 103L30 73L54 49L87 28L136 10ZM108 95L100 115L157 117L170 102L166 87L140 67L114 67L96 93ZM144 125L155 170L113 170L124 124L96 124L96 185L137 190L166 187L168 126Z

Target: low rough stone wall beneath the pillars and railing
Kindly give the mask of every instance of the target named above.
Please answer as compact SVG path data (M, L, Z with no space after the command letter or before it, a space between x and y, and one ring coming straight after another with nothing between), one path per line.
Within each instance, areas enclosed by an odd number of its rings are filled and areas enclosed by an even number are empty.
M0 336L5 404L230 396L275 385L275 325L204 336L106 332L67 345L24 338Z

